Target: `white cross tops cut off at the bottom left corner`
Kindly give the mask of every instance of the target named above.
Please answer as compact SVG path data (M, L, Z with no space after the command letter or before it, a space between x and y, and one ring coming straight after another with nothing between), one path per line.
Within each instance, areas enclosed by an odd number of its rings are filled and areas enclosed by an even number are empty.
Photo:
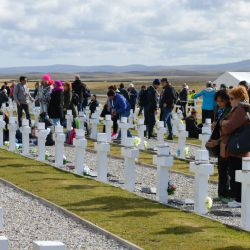
M0 207L0 232L4 232L3 209ZM0 249L9 250L9 240L6 236L0 236ZM33 250L66 250L60 241L34 241Z

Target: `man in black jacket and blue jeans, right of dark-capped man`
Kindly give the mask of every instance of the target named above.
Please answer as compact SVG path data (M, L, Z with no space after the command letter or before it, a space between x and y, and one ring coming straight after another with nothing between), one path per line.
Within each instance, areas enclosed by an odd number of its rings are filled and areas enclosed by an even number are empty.
M167 78L161 80L163 90L160 97L161 121L168 126L168 140L173 140L173 128L171 123L172 111L177 101L176 91Z

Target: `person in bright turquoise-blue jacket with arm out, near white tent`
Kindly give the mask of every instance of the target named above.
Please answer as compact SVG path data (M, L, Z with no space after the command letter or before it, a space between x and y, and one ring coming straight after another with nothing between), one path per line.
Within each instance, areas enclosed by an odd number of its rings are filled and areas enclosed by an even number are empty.
M202 123L204 124L206 119L214 120L214 107L215 107L215 96L216 90L213 88L212 83L208 82L206 89L203 89L198 94L194 95L194 99L201 97L202 101Z

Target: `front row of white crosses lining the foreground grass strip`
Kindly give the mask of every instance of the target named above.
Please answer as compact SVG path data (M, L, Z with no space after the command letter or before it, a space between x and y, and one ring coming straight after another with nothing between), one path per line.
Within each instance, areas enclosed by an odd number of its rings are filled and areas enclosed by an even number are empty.
M109 119L109 117L108 117ZM124 123L126 124L126 123ZM0 117L0 125L4 127L3 118ZM10 118L10 138L11 134L16 132L16 123L13 117ZM185 131L184 127L180 129L179 134ZM23 120L23 154L29 154L29 140L30 127L27 120ZM38 124L38 160L45 160L45 141L50 130L45 129L43 123ZM15 138L15 137L14 137ZM10 143L9 150L13 151L15 140ZM63 152L64 152L65 134L61 126L55 128L55 165L57 167L63 166ZM135 190L135 159L139 155L139 150L134 147L133 138L124 138L124 146L122 148L122 156L125 159L125 188L132 192ZM84 138L84 130L76 130L76 138L74 139L76 147L75 166L76 173L83 173L84 155L87 147L87 140ZM95 150L97 151L97 176L98 180L107 182L108 173L108 152L110 145L108 143L108 136L106 133L97 134L97 142L95 143ZM168 202L168 180L169 170L173 165L173 157L170 155L169 147L166 144L158 145L158 154L154 156L154 163L157 165L157 200L166 204ZM207 150L197 150L195 155L195 162L190 163L190 170L195 173L195 207L194 210L198 214L206 214L207 207L205 199L208 196L208 179L213 174L214 166L209 162L209 155ZM236 180L242 182L242 218L241 225L244 229L250 231L250 158L243 158L243 170L236 172ZM1 210L0 210L1 218ZM1 229L1 221L0 221Z

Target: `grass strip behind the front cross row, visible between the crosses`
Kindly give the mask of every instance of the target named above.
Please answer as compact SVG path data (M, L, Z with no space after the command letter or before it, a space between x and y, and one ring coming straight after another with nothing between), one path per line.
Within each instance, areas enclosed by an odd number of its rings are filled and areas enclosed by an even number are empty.
M91 139L88 139L88 149L94 150L94 141ZM121 157L121 146L114 144L110 145L110 155L115 157ZM153 165L153 155L154 154L150 151L140 151L139 163L156 167L155 165ZM189 170L189 163L187 161L175 159L174 166L171 168L171 170L177 173L183 173L189 176L194 176L194 174ZM216 182L218 181L217 167L214 168L214 174L209 177L209 180Z

